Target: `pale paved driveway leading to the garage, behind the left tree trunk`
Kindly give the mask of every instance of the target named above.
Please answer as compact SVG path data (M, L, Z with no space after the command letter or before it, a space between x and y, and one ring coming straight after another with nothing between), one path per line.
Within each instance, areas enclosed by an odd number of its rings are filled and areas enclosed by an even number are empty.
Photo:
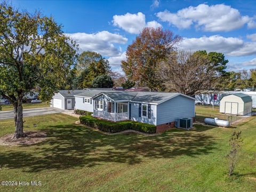
M52 107L42 107L42 108L33 108L33 109L23 109L23 117L36 116L36 115L46 115L46 114L55 114L61 113L64 110L56 109ZM13 111L1 111L0 120L2 119L11 119L14 118Z

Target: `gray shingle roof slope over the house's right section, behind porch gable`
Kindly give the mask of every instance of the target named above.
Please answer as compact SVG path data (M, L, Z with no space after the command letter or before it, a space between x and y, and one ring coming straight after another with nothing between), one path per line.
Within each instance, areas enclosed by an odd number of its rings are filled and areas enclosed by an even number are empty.
M130 100L134 102L146 102L146 103L162 103L166 100L169 100L180 93L164 93L164 92L127 92L127 91L109 91L102 92L106 94L111 99L118 100ZM182 94L181 94L182 95ZM187 95L185 97L191 98ZM195 99L194 99L195 100Z

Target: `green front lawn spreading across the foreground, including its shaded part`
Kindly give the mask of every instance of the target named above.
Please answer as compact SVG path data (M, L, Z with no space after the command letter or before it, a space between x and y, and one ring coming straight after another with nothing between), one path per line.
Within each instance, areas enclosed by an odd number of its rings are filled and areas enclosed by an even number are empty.
M255 191L255 117L235 128L244 142L231 179L230 128L195 125L196 131L173 129L156 136L105 135L64 114L25 120L25 130L44 130L49 138L33 146L0 146L1 180L42 186L1 186L0 191ZM0 121L0 135L12 132L11 120Z

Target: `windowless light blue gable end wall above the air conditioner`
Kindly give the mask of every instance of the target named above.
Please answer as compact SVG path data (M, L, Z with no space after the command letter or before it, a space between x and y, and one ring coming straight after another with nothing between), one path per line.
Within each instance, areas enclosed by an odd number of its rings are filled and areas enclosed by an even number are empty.
M157 105L157 125L195 117L195 100L178 95Z

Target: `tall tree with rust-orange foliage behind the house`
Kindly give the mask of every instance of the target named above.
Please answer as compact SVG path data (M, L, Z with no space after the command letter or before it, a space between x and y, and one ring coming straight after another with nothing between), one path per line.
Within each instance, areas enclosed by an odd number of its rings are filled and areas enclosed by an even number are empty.
M129 80L137 86L148 86L151 91L163 90L162 80L157 76L157 66L176 49L182 40L170 30L144 28L135 41L127 47L126 61L122 69Z

